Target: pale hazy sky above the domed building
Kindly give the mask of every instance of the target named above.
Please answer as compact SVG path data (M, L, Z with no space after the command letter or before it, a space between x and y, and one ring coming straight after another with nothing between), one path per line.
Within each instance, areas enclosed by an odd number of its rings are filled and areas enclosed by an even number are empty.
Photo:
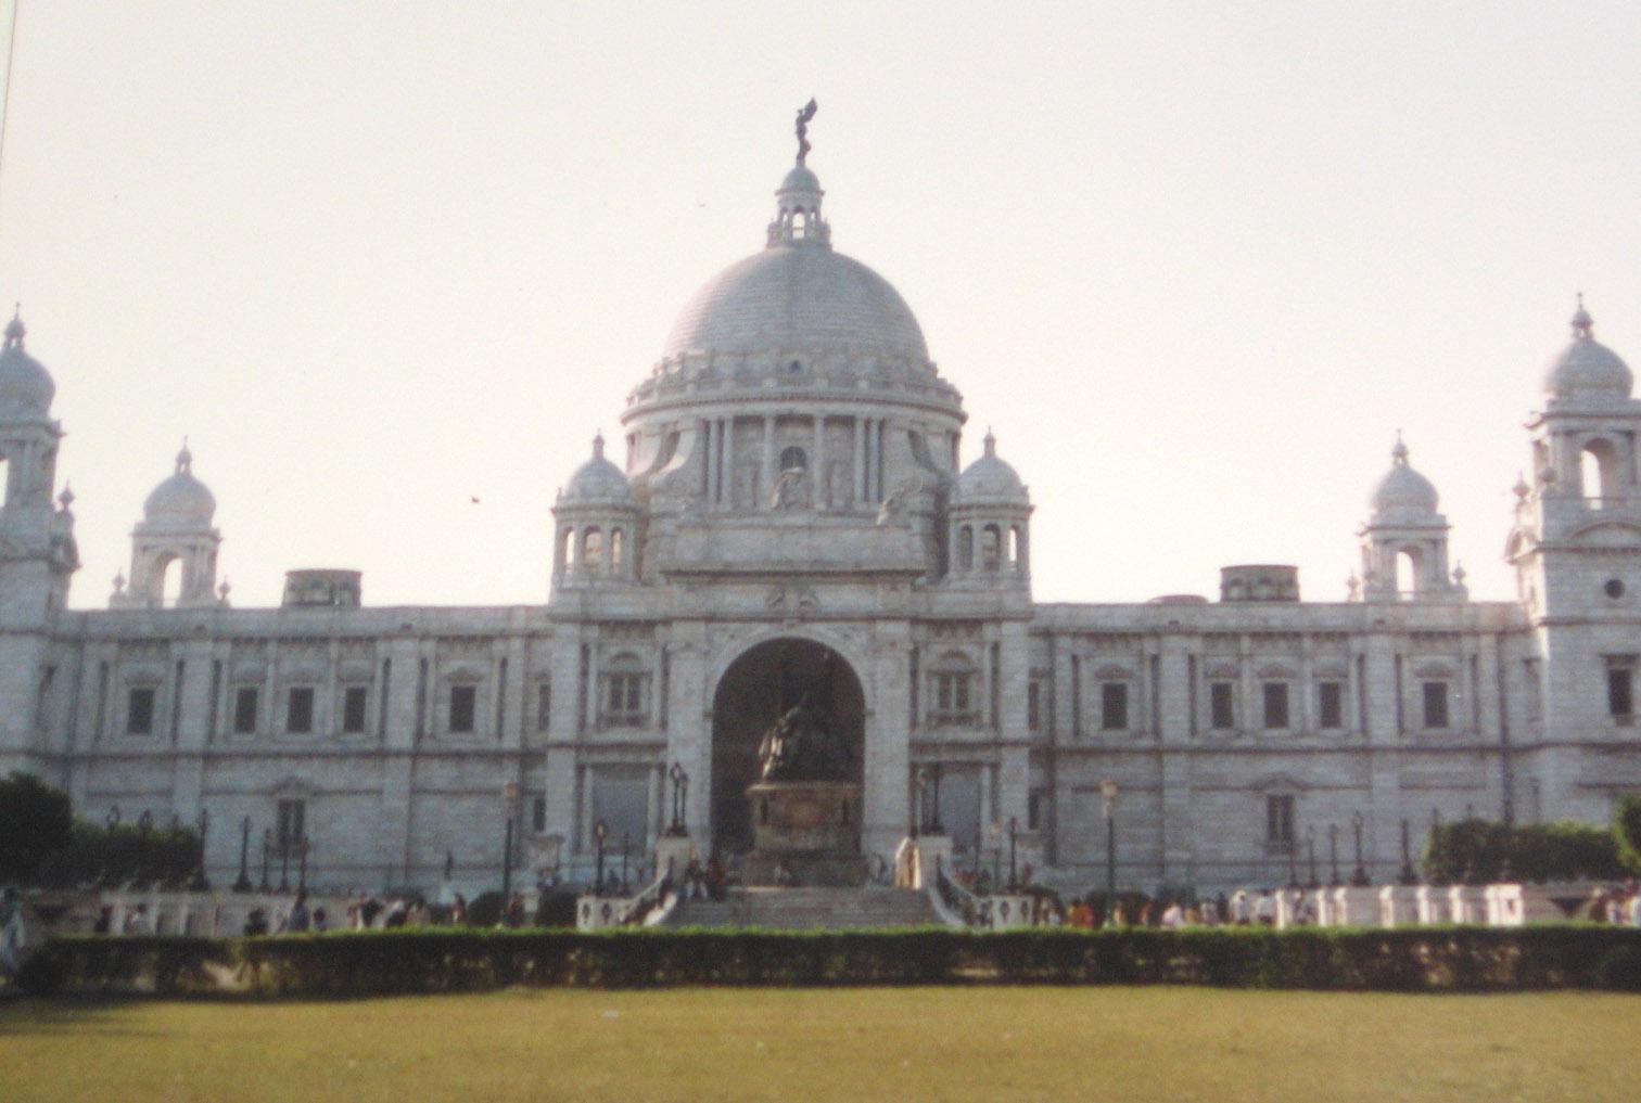
M811 95L834 244L1031 485L1040 601L1337 600L1396 428L1508 598L1575 292L1641 362L1636 3L21 5L0 297L75 606L184 434L236 605L545 601L556 487L761 247Z

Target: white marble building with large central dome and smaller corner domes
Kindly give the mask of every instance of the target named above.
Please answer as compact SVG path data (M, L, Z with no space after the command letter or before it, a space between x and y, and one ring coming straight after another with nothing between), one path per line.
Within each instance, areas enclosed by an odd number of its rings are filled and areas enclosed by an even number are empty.
M1024 482L990 436L958 469L960 393L894 288L832 249L816 175L776 198L766 246L688 302L629 393L625 467L596 441L543 518L545 605L373 608L358 574L295 572L281 608L231 608L184 449L110 608L67 610L54 387L13 321L0 770L98 819L208 810L218 883L245 818L307 836L320 883L432 885L446 856L494 883L514 783L519 877L555 851L584 875L596 823L612 852L653 851L674 764L702 849L743 842L788 641L799 665L834 656L868 852L939 767L960 856L978 837L990 860L1012 823L1021 860L1072 888L1104 880L1106 777L1119 880L1198 888L1287 880L1308 839L1326 864L1329 828L1349 867L1357 818L1388 878L1403 821L1415 847L1433 813L1603 821L1641 787L1641 403L1582 306L1523 441L1515 601L1469 600L1398 441L1351 600L1250 565L1218 601L1039 603Z

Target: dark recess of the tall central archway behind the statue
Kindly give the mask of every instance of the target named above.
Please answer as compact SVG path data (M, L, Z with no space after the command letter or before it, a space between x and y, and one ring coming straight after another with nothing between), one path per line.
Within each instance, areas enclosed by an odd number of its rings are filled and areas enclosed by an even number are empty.
M862 782L866 703L848 662L812 639L770 639L730 664L712 695L712 842L729 852L752 849L747 787L758 780L758 742L804 692L830 713L850 752L847 780ZM857 826L860 810L855 808Z

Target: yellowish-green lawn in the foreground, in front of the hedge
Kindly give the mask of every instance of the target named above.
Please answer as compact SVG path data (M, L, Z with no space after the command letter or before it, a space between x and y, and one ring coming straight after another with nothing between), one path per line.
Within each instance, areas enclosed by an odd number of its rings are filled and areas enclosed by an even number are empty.
M530 990L0 1003L7 1103L1633 1098L1641 996Z

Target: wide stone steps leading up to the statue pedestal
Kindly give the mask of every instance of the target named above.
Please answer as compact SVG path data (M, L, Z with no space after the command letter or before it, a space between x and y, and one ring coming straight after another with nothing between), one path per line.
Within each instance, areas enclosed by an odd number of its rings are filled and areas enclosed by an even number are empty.
M852 929L940 926L909 888L732 888L727 900L684 900L670 926Z

